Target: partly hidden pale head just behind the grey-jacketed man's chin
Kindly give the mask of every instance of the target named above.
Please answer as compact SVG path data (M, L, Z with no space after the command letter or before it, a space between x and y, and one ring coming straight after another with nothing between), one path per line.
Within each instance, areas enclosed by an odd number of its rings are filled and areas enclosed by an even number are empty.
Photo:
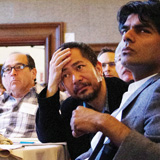
M121 41L115 50L116 71L117 71L120 79L122 79L125 82L131 82L131 81L133 81L133 76L132 76L131 71L128 70L127 68L125 68L121 64L121 52L122 52L123 45L124 45L124 43L123 43L123 41Z

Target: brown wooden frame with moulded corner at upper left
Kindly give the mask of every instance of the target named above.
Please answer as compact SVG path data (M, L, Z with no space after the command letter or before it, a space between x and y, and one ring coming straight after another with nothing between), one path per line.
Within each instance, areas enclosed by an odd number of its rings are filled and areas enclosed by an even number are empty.
M45 46L45 83L52 54L63 42L63 22L0 24L0 46Z

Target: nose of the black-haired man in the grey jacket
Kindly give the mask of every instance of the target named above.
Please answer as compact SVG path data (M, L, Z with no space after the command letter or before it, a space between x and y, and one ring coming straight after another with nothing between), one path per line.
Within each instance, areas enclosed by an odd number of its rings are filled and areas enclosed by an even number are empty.
M126 31L123 36L122 39L124 42L131 42L134 43L135 42L135 35L134 35L134 30L133 29L129 29L128 31Z

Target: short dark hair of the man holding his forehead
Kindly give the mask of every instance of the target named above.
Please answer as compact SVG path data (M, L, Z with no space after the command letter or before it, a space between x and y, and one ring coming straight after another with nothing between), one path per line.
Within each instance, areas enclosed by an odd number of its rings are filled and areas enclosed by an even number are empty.
M91 47L85 43L67 42L63 43L59 48L61 48L62 50L66 48L77 48L80 50L82 56L88 59L93 64L93 66L96 66L97 64L97 55L91 49Z

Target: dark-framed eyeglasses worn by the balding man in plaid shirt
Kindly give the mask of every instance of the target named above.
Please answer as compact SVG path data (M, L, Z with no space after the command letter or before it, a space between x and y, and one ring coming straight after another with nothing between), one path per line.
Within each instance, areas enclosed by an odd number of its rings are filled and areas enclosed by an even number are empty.
M12 69L14 68L16 71L20 71L22 69L24 69L25 67L30 67L29 65L25 65L25 64L22 64L22 63L18 63L16 64L15 66L13 67L5 67L2 69L2 73L5 73L5 74L9 74L11 73Z

